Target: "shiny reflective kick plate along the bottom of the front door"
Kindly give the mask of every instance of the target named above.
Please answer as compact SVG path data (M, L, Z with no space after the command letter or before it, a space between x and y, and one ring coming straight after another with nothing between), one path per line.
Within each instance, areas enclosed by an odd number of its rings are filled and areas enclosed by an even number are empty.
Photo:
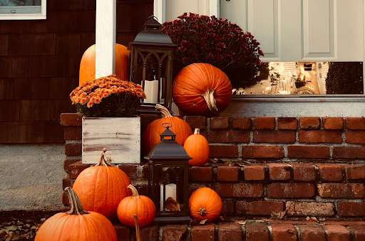
M364 95L362 62L270 62L235 95Z

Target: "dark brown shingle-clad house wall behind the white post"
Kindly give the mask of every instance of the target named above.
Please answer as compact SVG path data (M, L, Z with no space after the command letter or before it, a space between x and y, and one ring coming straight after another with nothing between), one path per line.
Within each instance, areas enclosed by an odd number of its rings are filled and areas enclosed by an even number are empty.
M47 19L0 21L0 143L63 142L84 51L95 43L96 0L47 0ZM117 43L128 45L153 0L117 1Z

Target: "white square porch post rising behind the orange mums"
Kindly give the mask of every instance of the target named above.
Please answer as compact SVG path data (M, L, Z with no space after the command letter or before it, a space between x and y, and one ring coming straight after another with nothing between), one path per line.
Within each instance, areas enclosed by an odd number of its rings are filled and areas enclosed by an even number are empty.
M115 73L116 0L96 0L96 78Z

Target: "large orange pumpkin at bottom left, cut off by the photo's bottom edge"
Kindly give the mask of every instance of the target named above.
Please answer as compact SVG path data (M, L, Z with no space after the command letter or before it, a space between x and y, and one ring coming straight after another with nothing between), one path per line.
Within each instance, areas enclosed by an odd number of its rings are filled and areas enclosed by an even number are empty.
M65 189L71 210L57 213L39 228L35 241L117 241L117 233L108 218L86 212L71 188Z

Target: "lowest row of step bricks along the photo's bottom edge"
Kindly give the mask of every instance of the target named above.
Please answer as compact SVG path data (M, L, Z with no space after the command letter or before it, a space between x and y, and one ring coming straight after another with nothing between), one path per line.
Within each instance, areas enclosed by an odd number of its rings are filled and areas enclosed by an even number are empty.
M142 241L364 241L365 222L257 220L200 226L150 225L140 229ZM114 225L118 241L134 241L135 229Z

